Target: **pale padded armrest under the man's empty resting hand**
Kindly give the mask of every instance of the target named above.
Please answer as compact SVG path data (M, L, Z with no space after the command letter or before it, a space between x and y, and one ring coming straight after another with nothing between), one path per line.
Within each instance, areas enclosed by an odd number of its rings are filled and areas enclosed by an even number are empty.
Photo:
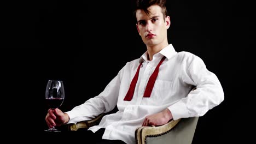
M136 144L144 144L146 141L146 137L160 136L168 133L170 130L174 128L175 125L181 119L177 119L176 121L172 120L164 125L158 127L139 127L135 131Z

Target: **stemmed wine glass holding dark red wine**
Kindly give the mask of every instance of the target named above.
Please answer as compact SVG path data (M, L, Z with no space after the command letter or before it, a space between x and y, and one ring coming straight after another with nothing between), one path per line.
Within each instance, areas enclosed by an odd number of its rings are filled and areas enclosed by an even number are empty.
M56 109L61 106L65 97L63 82L59 80L49 80L45 91L45 102L49 109ZM55 127L45 131L60 132Z

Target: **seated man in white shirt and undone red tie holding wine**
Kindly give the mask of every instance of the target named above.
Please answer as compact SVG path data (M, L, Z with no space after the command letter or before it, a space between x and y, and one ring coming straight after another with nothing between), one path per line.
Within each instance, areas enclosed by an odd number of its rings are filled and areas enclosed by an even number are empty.
M202 59L189 52L176 52L168 44L166 1L137 1L137 30L147 46L138 59L126 63L97 97L63 113L49 110L46 123L55 125L90 120L117 105L118 112L104 116L89 128L106 142L135 143L135 129L166 124L171 119L199 117L224 100L216 75ZM196 86L196 90L191 88ZM100 129L100 130L99 130Z

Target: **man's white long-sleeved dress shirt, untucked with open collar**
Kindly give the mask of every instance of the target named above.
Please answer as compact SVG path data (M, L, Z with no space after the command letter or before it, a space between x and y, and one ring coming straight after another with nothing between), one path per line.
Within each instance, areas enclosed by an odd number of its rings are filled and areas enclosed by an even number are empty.
M160 65L152 94L143 94L149 77L156 65ZM139 62L142 62L138 81L131 101L124 101ZM194 91L191 88L196 86ZM123 140L135 143L135 130L141 127L146 116L169 109L173 119L199 117L224 100L222 86L215 74L207 70L202 59L189 52L176 52L170 44L148 61L147 52L119 71L102 93L84 104L66 112L68 123L90 120L103 112L109 112L117 105L118 112L106 115L99 125L89 128L97 131L106 128L102 139Z

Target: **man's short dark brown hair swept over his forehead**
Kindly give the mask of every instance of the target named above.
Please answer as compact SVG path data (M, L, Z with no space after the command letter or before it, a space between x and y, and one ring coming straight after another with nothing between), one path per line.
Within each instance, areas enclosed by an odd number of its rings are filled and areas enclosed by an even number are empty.
M165 4L166 4L166 0L136 0L136 8L134 11L134 15L136 17L136 11L138 9L142 9L145 11L147 15L150 15L149 14L150 11L148 10L148 8L152 5L159 5L159 7L162 8L162 15L164 15L164 19L165 19L165 17L168 15Z

